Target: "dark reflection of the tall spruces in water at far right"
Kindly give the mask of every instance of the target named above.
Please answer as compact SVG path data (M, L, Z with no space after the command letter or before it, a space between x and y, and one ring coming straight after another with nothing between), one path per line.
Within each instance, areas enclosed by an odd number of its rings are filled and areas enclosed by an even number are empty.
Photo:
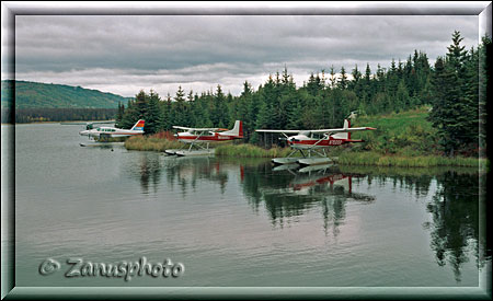
M479 177L475 174L446 172L436 177L439 185L433 200L427 205L433 224L432 248L438 265L451 266L456 281L460 281L460 269L468 262L467 252L475 254L477 265L484 259L479 255ZM482 240L480 241L480 243ZM483 247L483 246L481 246Z

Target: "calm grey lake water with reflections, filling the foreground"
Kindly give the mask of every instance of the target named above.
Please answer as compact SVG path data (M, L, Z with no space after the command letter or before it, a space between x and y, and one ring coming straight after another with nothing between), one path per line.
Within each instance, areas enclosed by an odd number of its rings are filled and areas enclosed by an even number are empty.
M474 170L276 171L83 148L79 130L15 127L16 286L477 287L486 265ZM142 256L185 270L64 276ZM60 269L41 275L47 258Z

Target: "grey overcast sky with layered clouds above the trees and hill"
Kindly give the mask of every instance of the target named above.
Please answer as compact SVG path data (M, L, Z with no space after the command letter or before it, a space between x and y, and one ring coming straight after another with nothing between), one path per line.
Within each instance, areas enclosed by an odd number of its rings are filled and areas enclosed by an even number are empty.
M15 77L134 96L256 90L286 66L311 72L388 67L414 49L433 63L454 31L478 46L477 15L18 15ZM3 74L2 74L3 78Z

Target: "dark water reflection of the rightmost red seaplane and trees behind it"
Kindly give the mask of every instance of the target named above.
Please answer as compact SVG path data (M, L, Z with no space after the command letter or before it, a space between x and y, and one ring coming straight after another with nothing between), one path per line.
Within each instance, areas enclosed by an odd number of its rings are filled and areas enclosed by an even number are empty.
M355 192L354 182L363 175L343 173L329 164L297 167L290 164L288 169L273 171L266 164L249 167L244 173L242 187L249 204L255 211L263 205L274 224L284 227L309 211L321 211L324 232L332 227L337 235L347 201L375 201L375 196Z

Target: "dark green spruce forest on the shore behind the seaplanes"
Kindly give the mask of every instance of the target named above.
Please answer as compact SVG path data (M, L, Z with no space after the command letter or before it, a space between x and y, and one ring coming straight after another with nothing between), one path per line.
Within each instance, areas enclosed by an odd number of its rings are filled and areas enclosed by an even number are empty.
M118 104L116 121L129 128L144 118L146 132L154 134L170 130L173 125L226 128L240 119L244 140L257 143L261 137L254 129L259 128L341 127L354 111L376 115L431 105L429 120L438 130L440 148L454 155L478 148L478 138L485 138L484 132L479 136L478 112L480 105L485 105L488 65L480 61L486 60L491 39L484 37L477 49L469 50L460 45L461 40L456 31L448 53L438 57L434 66L425 53L414 50L405 61L392 59L389 68L378 65L371 70L367 63L364 69L354 66L351 72L342 67L336 73L332 66L311 73L299 88L285 68L282 73L271 74L256 90L244 81L239 96L225 93L220 84L216 91L200 94L186 93L179 86L173 97L168 94L163 99L152 90L140 91L126 107ZM481 112L485 123L486 112Z

